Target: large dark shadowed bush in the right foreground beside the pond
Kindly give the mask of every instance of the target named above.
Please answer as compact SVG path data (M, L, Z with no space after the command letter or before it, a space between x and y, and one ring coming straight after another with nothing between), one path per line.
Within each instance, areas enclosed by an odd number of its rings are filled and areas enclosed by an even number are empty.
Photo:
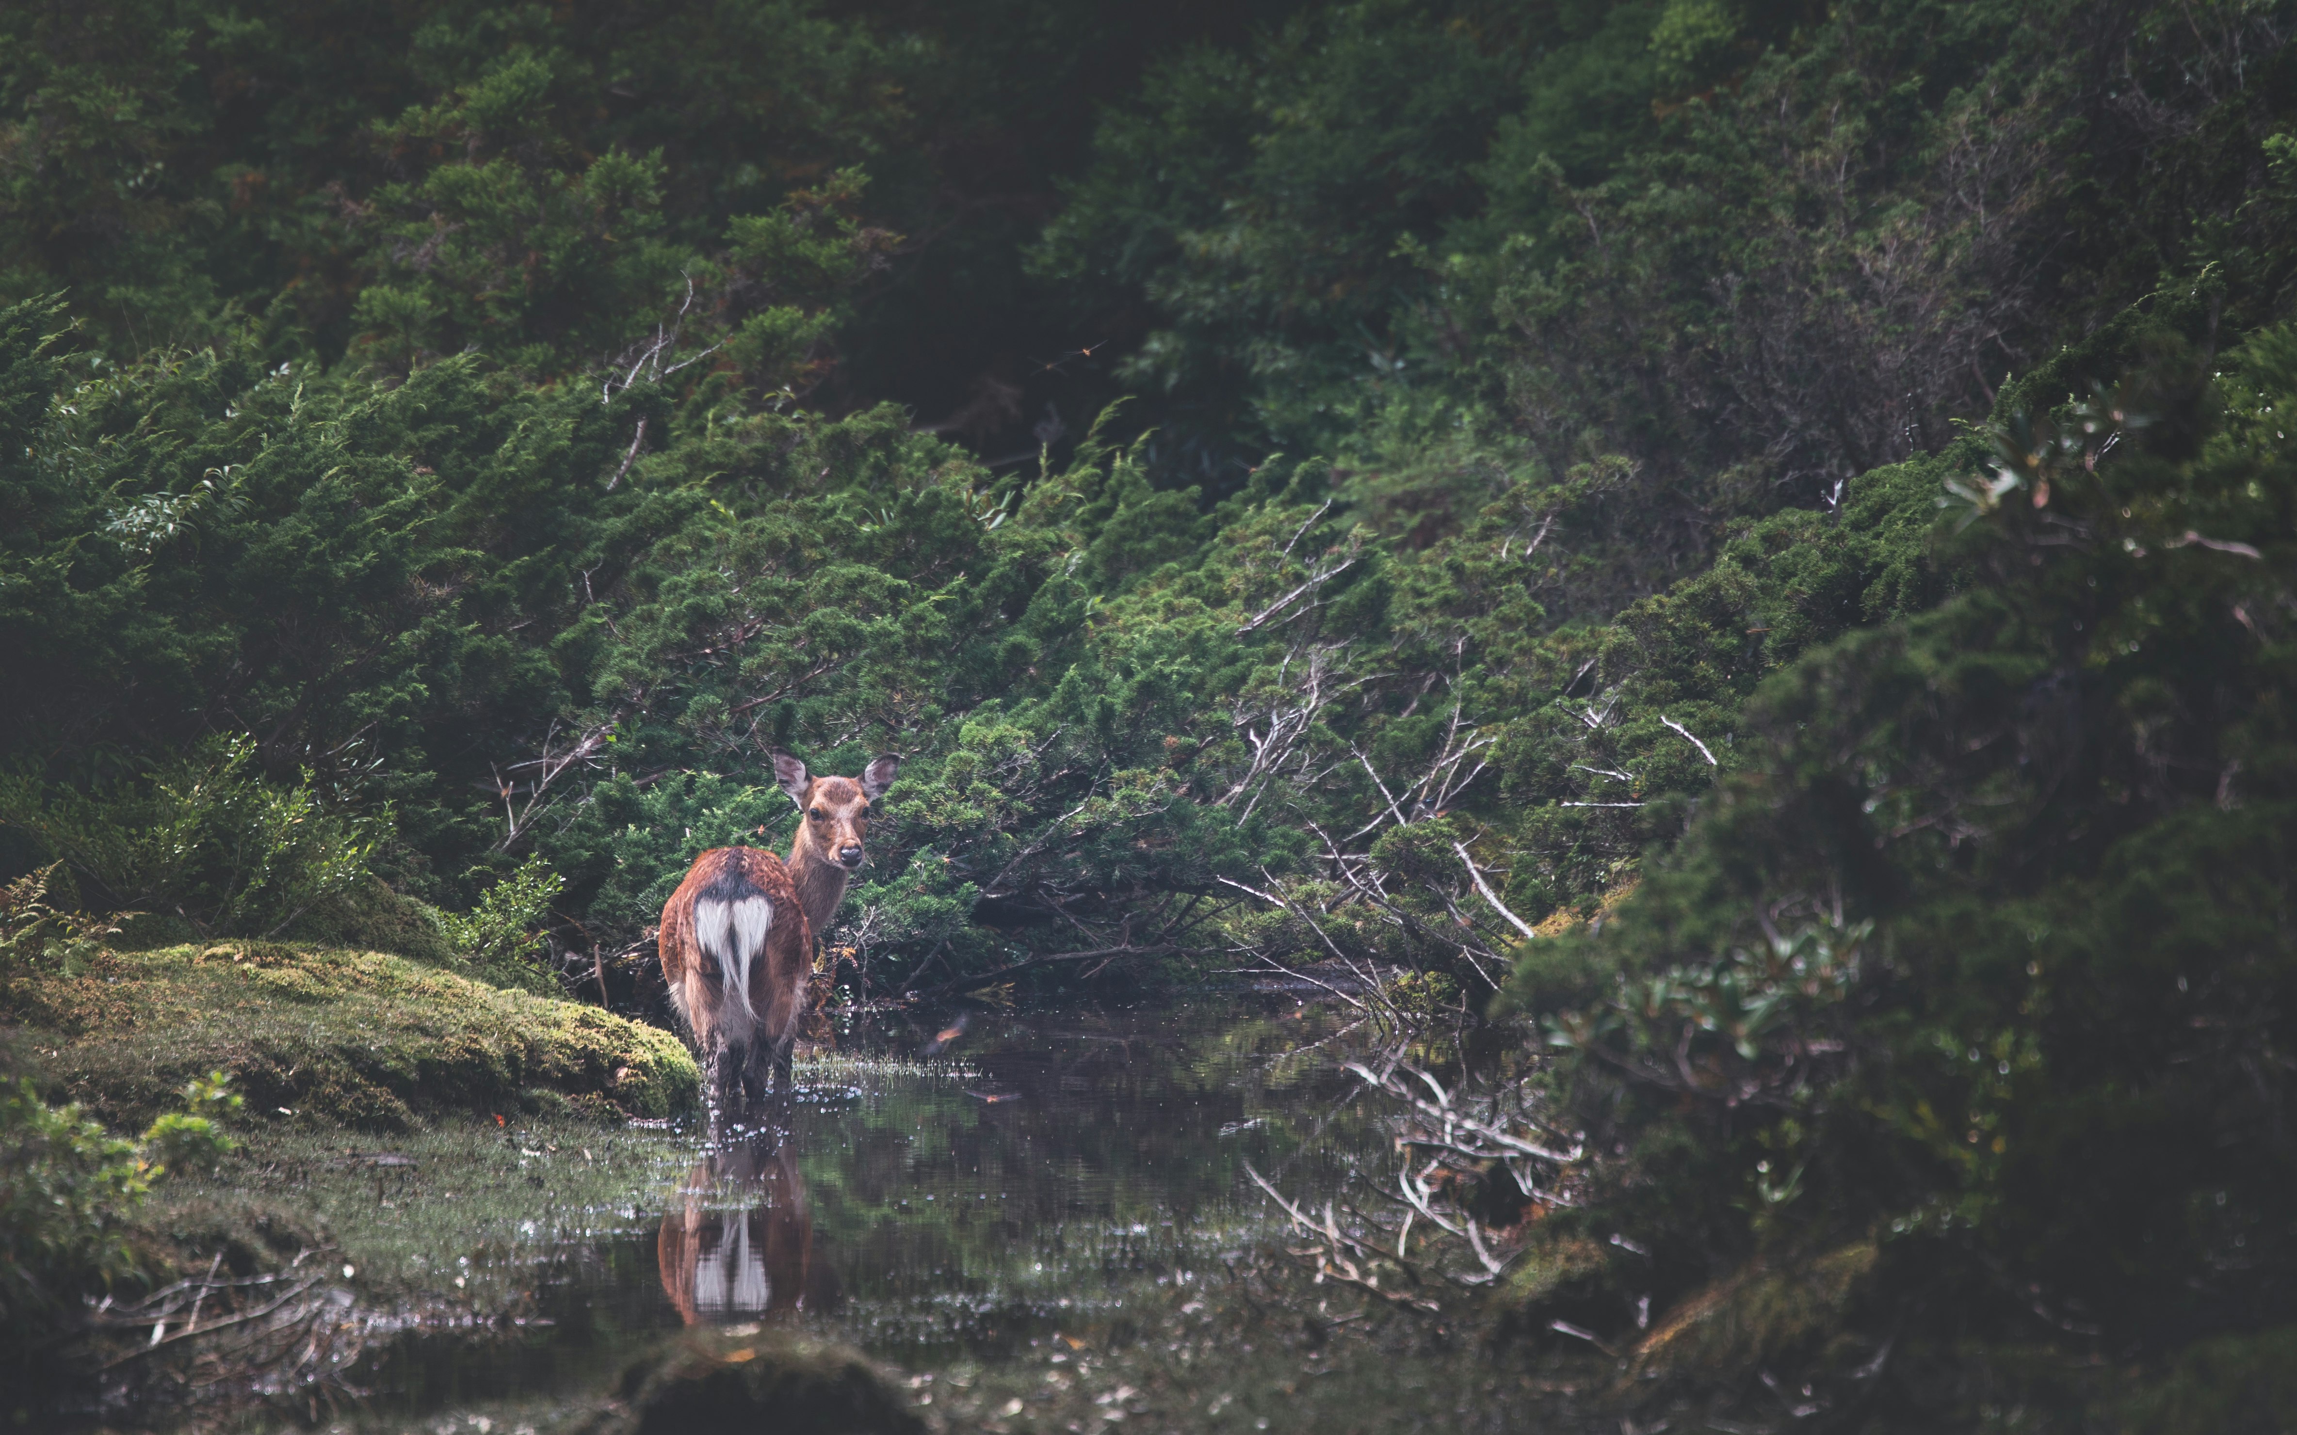
M1525 960L1626 1281L1879 1242L1980 1339L2290 1320L2297 328L2219 363L2001 425L1969 590L1773 677L1638 900Z

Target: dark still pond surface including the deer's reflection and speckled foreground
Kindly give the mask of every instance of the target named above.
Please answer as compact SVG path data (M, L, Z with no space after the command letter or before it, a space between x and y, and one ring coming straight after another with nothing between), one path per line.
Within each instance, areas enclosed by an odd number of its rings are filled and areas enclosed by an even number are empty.
M976 1013L923 1056L935 1035L848 1033L781 1130L664 1132L629 1205L501 1256L531 1283L515 1329L370 1348L354 1421L549 1428L664 1334L753 1322L859 1345L951 1428L1518 1428L1550 1389L1284 1256L1247 1162L1316 1199L1383 1141L1344 1008Z

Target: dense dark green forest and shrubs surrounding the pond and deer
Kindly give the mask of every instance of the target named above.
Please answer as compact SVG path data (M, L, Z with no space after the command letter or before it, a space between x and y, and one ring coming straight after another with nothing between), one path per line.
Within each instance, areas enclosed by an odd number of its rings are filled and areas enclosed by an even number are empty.
M765 748L891 748L854 999L1376 962L1548 1052L1525 1329L2265 1371L2292 28L9 5L0 877L659 1017Z

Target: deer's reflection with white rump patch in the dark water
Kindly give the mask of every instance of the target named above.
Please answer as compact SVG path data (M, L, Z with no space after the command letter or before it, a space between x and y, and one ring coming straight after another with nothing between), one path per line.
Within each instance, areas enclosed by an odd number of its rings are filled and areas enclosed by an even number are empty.
M813 1212L783 1132L728 1143L687 1173L662 1217L662 1290L687 1325L795 1320L838 1302L838 1277L813 1249Z

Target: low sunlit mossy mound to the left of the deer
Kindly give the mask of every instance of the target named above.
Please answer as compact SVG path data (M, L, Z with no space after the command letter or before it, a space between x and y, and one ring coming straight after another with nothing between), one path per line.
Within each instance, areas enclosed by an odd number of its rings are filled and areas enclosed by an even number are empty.
M0 992L60 1097L138 1125L207 1070L255 1114L402 1130L427 1111L671 1116L701 1077L666 1031L404 957L232 941L101 953Z

